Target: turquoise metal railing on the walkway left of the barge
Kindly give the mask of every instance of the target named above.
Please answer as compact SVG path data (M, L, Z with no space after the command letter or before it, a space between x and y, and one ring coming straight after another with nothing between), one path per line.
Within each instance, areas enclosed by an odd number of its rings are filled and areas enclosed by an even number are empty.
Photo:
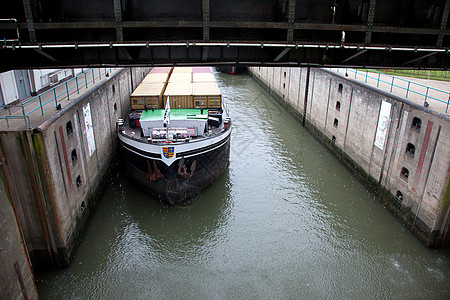
M9 120L23 119L26 128L31 128L30 114L40 110L44 116L44 106L54 103L55 109L60 109L62 100L70 100L70 96L80 93L80 89L89 88L89 85L95 84L95 80L108 77L116 68L89 69L76 77L60 83L44 93L32 97L20 104L16 105L0 105L0 110L7 111L7 115L0 116L0 120L6 120L6 126L9 128Z

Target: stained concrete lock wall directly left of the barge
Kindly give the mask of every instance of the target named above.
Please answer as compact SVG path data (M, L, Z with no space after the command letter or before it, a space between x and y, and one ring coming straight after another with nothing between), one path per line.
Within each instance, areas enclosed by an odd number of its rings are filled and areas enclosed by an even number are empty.
M70 263L115 154L117 119L149 71L123 69L38 128L0 132L3 182L34 269Z

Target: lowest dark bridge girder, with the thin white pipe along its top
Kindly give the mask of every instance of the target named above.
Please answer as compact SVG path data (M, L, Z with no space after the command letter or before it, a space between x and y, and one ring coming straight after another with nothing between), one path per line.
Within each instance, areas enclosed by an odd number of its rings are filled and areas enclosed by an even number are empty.
M0 49L0 71L175 64L444 69L448 64L448 51L441 48L255 42L71 43L6 45Z

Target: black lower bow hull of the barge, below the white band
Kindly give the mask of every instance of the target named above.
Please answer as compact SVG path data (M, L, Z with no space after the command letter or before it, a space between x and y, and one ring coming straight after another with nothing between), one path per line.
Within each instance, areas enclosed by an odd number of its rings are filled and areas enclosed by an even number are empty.
M170 166L162 161L137 155L122 145L120 150L128 175L138 185L160 201L177 205L199 194L225 171L230 155L230 139L217 149L178 159ZM185 167L191 177L180 175L180 166ZM157 172L159 176L155 175Z

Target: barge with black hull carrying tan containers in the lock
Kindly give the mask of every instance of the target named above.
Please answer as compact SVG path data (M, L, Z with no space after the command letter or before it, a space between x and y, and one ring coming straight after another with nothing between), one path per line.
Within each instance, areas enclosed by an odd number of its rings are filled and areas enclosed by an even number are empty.
M118 121L128 175L164 203L178 205L228 166L231 118L209 67L153 68Z

